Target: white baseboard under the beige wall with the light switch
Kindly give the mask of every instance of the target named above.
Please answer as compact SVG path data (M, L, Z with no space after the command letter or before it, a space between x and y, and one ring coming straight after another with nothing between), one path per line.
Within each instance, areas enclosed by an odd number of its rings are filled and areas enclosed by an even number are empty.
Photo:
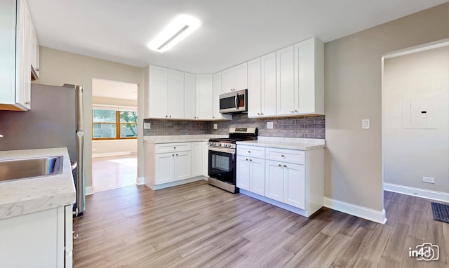
M343 201L338 201L335 199L330 199L328 197L324 198L324 206L333 210L338 210L343 213L354 215L356 217L361 217L366 220L381 223L382 225L387 222L387 215L385 210L379 211L371 208L366 208L363 206L357 206L352 203L346 203Z

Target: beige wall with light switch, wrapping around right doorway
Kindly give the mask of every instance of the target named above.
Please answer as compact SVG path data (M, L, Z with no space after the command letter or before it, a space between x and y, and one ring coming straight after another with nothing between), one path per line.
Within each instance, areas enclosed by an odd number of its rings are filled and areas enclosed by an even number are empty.
M443 4L325 44L326 197L383 209L382 54L447 37Z

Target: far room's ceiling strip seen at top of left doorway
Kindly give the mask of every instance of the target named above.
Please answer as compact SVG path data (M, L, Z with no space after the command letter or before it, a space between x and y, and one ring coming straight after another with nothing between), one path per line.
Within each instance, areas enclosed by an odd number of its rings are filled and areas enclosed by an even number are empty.
M92 79L92 95L102 98L137 100L138 85L94 78Z

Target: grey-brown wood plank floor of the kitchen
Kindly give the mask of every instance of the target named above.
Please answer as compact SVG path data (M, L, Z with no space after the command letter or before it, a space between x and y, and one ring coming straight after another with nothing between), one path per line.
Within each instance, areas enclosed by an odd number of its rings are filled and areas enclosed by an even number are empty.
M449 224L429 200L384 193L387 225L322 208L306 218L193 182L131 186L86 198L74 267L445 267ZM430 242L438 261L408 257Z

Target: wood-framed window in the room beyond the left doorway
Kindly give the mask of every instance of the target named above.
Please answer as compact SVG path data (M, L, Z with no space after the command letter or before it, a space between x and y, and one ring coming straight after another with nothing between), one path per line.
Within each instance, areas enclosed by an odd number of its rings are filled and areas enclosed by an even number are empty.
M92 125L92 140L135 139L138 136L138 112L94 108Z

